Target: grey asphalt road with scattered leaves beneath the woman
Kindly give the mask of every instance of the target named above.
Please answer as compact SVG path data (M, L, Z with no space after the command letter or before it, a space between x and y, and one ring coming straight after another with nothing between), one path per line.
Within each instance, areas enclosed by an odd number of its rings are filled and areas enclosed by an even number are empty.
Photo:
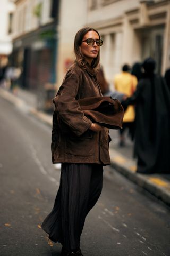
M40 228L60 181L51 163L51 128L1 97L0 109L0 255L59 256L61 245ZM169 208L110 170L86 219L84 256L169 256Z

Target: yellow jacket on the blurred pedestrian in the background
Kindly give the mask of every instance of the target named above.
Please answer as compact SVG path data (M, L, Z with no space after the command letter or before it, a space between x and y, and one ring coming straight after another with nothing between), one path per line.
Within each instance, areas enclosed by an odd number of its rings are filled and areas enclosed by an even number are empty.
M130 97L136 90L138 80L135 76L131 75L129 72L122 71L114 78L115 89L119 92L126 94ZM134 107L130 105L124 114L123 122L133 122L135 118Z

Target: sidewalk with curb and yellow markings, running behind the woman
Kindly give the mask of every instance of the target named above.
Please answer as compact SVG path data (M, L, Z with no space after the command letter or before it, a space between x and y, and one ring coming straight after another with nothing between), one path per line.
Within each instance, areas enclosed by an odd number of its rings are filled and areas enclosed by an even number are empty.
M11 92L0 88L0 96L13 103L15 106L24 108L30 114L52 126L52 115L48 115L36 109L36 97L34 94L19 89L18 94L13 95ZM115 169L138 186L145 188L152 195L155 195L158 199L170 205L170 174L144 175L136 173L137 163L132 157L133 143L127 138L126 146L119 147L118 131L111 130L110 135L112 137L110 144L111 166L113 167L111 175L114 174Z

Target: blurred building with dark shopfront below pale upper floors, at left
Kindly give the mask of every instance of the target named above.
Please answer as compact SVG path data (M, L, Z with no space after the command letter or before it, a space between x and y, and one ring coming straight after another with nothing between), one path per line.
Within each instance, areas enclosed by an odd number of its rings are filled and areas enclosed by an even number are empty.
M59 1L16 0L12 65L22 69L20 86L43 91L56 82Z

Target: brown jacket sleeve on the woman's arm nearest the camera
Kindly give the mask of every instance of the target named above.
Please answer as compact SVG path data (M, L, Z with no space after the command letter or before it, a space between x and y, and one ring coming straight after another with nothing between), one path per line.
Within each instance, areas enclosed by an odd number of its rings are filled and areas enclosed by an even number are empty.
M80 84L81 74L79 75L74 70L70 70L53 100L58 116L77 136L86 132L92 123L90 119L84 116L76 100Z

